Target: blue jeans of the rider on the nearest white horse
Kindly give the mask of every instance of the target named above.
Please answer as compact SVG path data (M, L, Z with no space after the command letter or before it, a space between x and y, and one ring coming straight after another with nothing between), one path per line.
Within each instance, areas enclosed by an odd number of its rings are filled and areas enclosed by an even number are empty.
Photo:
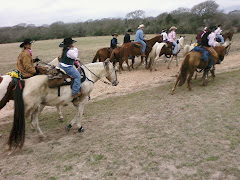
M59 64L59 67L63 69L69 76L74 78L73 86L72 86L72 95L75 95L78 92L80 92L80 87L81 87L80 73L73 66L64 67L61 64Z

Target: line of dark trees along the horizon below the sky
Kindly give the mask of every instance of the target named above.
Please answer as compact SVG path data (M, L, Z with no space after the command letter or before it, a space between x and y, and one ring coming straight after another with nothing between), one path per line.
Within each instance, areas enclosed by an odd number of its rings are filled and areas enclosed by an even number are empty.
M136 30L144 24L146 34L161 33L163 28L176 26L179 34L196 34L205 26L222 24L226 31L240 32L240 10L224 13L219 5L208 0L192 8L178 8L156 17L146 17L145 11L136 10L125 18L104 18L85 22L54 22L50 25L35 26L21 23L13 27L0 28L0 43L22 42L25 38L34 40L59 39L65 37L106 36L112 33L124 34L127 29Z

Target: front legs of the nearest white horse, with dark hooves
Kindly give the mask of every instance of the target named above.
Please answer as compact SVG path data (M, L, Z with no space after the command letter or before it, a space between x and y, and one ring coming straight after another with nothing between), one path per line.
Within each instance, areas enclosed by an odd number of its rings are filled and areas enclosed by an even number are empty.
M87 102L87 96L80 98L80 100L77 102L73 102L73 105L76 108L77 112L76 112L76 115L74 116L74 118L71 120L71 122L66 127L66 131L69 131L76 121L77 121L78 131L80 132L81 129L83 130L83 128L80 124L80 119L82 117L83 109L84 109L86 102Z

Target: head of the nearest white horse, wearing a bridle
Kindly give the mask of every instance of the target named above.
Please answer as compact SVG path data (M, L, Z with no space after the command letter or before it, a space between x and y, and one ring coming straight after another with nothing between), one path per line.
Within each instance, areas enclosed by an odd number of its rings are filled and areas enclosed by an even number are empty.
M106 78L112 83L113 86L117 86L119 81L117 79L117 71L115 66L111 62L104 62L105 69L107 71Z

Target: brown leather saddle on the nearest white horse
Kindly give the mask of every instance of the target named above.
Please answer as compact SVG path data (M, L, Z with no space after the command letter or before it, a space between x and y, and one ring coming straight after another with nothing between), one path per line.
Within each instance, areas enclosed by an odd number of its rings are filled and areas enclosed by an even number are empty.
M77 68L79 73L81 74L81 82L86 80L85 71L82 67ZM69 76L63 69L59 67L54 67L48 71L48 87L49 88L56 88L60 86L66 86L73 84L74 78Z

